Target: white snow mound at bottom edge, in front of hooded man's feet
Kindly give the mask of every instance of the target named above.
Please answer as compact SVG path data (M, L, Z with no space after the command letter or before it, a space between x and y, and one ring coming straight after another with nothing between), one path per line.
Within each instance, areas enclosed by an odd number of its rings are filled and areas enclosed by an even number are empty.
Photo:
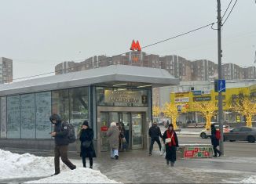
M118 183L102 175L100 171L90 168L77 168L75 170L63 171L45 179L29 181L25 183Z

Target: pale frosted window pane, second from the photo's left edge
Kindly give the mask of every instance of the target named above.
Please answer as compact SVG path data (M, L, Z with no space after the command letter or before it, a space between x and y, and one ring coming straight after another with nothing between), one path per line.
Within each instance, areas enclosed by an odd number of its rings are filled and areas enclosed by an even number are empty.
M7 138L20 139L20 96L7 97Z

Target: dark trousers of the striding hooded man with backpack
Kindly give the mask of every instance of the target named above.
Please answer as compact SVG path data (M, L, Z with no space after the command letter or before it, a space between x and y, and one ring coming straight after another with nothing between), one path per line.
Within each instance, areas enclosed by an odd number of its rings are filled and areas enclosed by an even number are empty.
M60 173L60 158L64 164L70 169L74 169L75 165L68 160L68 145L64 146L55 146L54 148L54 166L55 173Z

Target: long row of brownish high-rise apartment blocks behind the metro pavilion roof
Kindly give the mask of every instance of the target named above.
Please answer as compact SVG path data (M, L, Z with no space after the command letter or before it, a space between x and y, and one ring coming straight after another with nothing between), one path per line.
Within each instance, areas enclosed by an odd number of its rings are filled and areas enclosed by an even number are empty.
M218 78L218 64L210 60L191 61L181 56L159 56L141 51L127 52L125 56L93 56L80 63L60 63L55 67L55 73L65 74L112 64L162 68L181 81L212 81ZM242 68L233 63L225 63L222 64L222 76L226 80L256 79L256 70L255 67Z

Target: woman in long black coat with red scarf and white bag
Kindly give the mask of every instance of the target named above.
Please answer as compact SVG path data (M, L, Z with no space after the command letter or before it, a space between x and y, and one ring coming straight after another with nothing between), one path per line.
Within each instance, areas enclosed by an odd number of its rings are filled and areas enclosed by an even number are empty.
M170 164L171 167L174 167L179 143L177 141L176 132L174 132L173 124L169 124L168 129L163 133L163 142L166 146L166 164Z

